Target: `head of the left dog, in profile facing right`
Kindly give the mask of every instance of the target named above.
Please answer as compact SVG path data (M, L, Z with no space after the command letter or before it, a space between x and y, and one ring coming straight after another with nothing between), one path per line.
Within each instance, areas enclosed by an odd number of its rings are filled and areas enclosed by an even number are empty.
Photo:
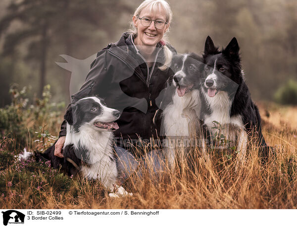
M114 131L119 128L114 121L120 117L120 112L105 106L98 97L87 97L71 105L64 116L68 124L76 131L81 126L87 126L99 131Z

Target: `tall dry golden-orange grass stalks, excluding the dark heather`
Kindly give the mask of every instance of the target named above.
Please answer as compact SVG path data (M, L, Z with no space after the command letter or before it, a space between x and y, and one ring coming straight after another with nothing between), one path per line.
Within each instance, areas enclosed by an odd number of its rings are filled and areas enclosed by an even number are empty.
M155 174L153 166L140 166L138 170L142 174L133 174L123 185L127 191L133 192L133 196L109 198L98 181L76 178L66 192L57 194L49 189L36 194L28 187L24 189L21 199L13 196L5 199L0 197L0 207L296 209L296 111L296 108L271 108L270 116L267 117L265 115L269 114L265 114L265 109L261 106L263 135L266 142L275 148L274 155L270 155L266 162L260 162L259 147L252 140L249 142L245 162L237 171L236 154L230 155L226 151L213 149L208 151L207 156L203 156L199 148L193 149L189 154L184 154L181 149L177 151L179 155L173 171L164 168ZM147 163L151 163L148 156L145 159ZM21 184L24 182L19 182Z

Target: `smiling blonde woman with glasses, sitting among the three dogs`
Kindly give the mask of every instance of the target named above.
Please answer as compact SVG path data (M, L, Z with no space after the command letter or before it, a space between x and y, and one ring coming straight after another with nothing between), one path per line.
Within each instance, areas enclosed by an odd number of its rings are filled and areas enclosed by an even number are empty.
M171 19L167 1L145 0L134 13L133 29L98 52L84 85L72 96L75 102L98 95L108 107L122 111L119 129L114 131L115 150L122 159L130 155L124 149L127 141L135 144L139 138L156 138L158 130L152 121L158 109L155 99L171 74L169 65L176 53L164 41ZM54 152L61 158L65 135L63 122Z

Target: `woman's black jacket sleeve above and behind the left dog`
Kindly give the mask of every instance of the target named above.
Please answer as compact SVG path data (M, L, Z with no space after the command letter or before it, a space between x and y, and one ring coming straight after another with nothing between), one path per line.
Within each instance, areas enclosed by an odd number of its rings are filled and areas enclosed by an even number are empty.
M108 89L110 81L112 79L113 69L111 65L106 66L106 61L109 55L107 55L106 49L99 51L95 60L91 63L91 69L86 77L86 80L80 90L71 96L72 102L69 106L78 100L87 96L101 96L104 91ZM66 136L66 120L63 120L59 137Z

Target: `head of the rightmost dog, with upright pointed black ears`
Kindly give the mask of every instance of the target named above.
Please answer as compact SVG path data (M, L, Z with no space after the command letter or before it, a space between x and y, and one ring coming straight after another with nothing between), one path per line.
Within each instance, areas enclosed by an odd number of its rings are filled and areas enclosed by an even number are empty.
M204 91L209 97L214 97L220 91L234 91L235 83L242 81L239 46L234 37L226 49L219 51L208 36L205 41L204 62ZM234 81L234 82L232 82Z

